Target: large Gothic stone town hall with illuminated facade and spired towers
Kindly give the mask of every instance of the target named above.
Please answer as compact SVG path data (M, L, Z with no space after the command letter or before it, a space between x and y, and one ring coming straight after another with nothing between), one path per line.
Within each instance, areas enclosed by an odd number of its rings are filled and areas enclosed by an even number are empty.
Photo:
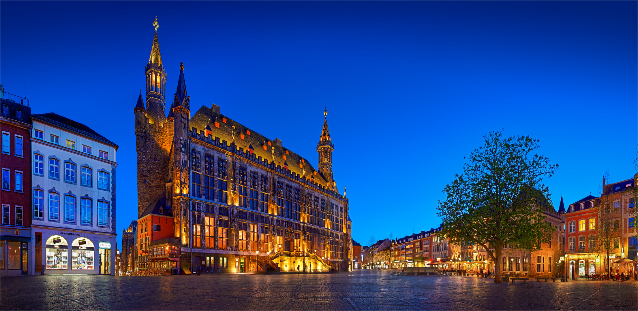
M348 199L334 180L327 117L315 169L281 140L230 119L217 105L191 110L180 68L166 116L167 76L156 28L145 66L145 100L140 94L133 112L138 216L153 202L165 202L165 212L174 217L172 238L182 246L181 268L352 268ZM149 252L154 236L144 239L140 243L138 237L140 254ZM142 256L138 263L144 262Z

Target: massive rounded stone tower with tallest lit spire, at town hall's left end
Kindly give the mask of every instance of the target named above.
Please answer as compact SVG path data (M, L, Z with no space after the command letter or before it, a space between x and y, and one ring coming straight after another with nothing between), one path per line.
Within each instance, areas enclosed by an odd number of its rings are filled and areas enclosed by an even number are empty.
M135 114L135 142L137 149L137 215L149 203L162 196L167 187L169 152L173 140L173 120L167 119L166 71L161 62L157 18L153 22L155 36L149 62L144 68L146 100L142 92L133 108Z

